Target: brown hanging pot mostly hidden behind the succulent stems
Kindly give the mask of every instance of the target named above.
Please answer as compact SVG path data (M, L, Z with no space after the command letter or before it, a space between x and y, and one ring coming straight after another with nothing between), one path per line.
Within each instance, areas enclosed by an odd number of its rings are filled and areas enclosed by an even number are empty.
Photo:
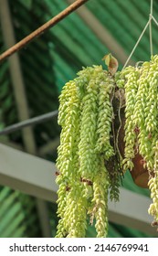
M123 93L119 94L119 96L118 96L118 91L116 91L115 97L113 100L113 108L114 108L114 114L115 114L114 130L115 130L116 134L119 133L118 134L118 147L119 147L121 156L124 158L125 114L124 114L124 107L121 107L121 112L120 112L121 128L119 128L120 121L119 121L119 116L118 116L118 110L119 110L119 106L120 106L120 97L122 97L121 101L123 102L124 101ZM122 104L122 105L124 105L124 104ZM134 131L133 131L133 133L134 133ZM130 171L130 173L132 175L132 179L133 179L134 183L139 187L148 188L149 174L148 174L148 170L143 167L144 161L143 161L142 155L137 153L134 156L134 158L132 159L132 163L133 163L134 167L133 167L132 171Z

